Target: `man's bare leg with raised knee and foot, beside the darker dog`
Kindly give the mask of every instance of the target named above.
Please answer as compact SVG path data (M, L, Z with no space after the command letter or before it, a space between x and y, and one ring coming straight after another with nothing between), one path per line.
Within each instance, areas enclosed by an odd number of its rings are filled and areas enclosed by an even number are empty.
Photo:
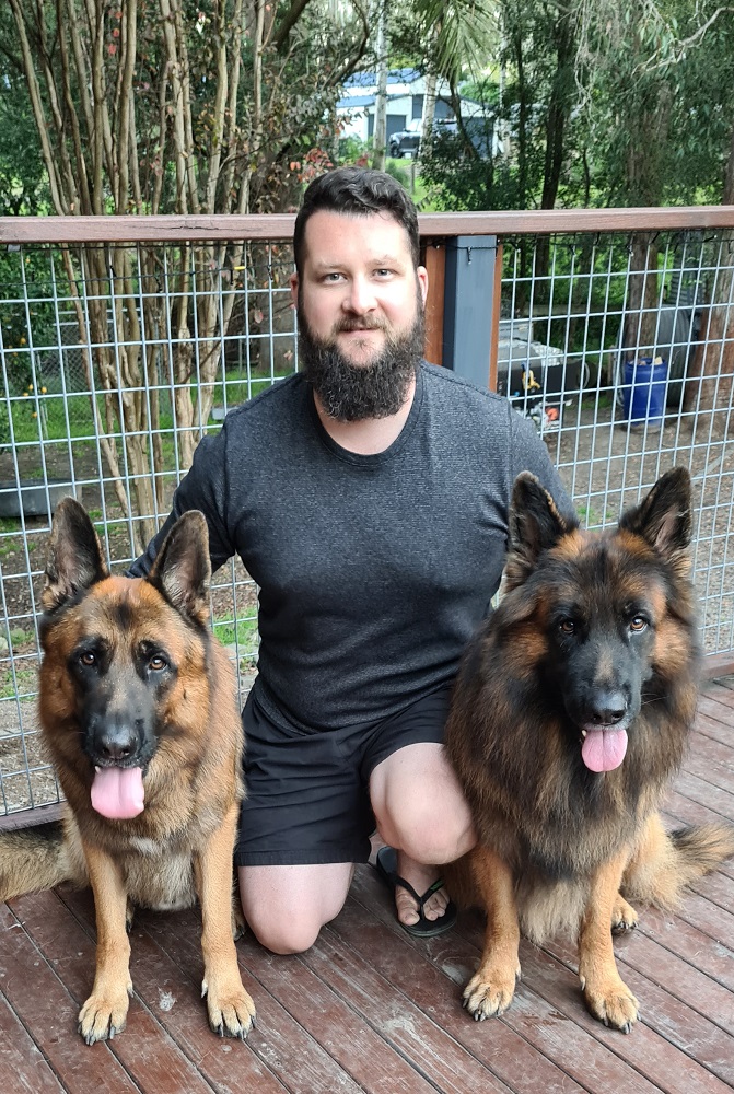
M446 759L443 745L406 745L375 767L370 798L381 837L397 851L397 872L424 893L440 876L438 869L453 862L476 842L469 807ZM427 919L439 919L448 903L445 888L427 901ZM413 897L396 887L395 904L401 923L411 927L419 915Z

